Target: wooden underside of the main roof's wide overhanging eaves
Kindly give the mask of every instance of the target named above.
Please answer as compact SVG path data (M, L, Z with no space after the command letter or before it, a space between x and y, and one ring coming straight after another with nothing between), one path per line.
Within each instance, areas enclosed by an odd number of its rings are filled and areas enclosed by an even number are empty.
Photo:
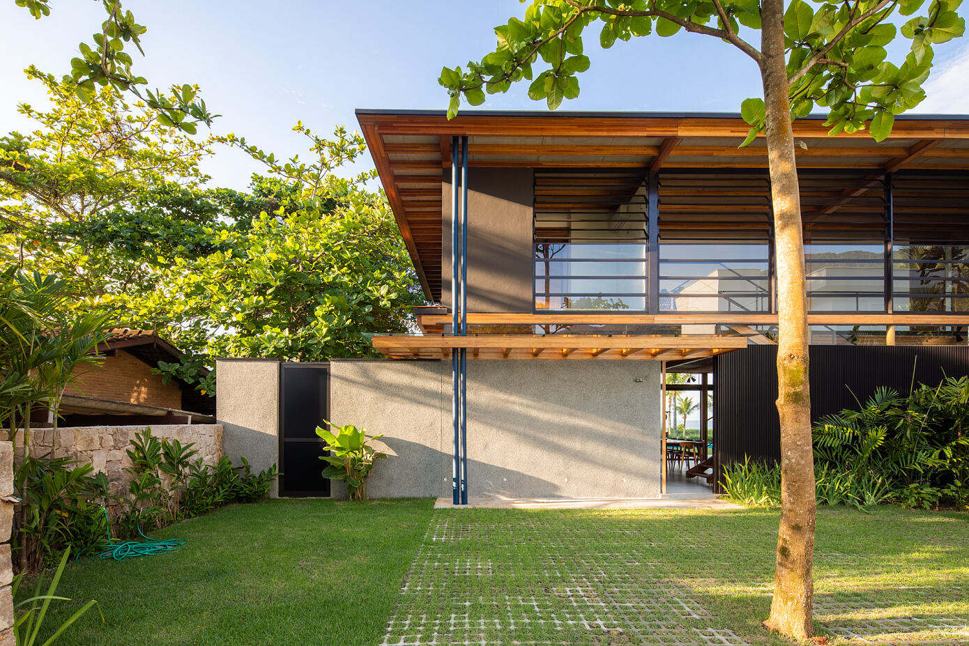
M464 111L448 121L443 111L358 110L357 116L431 301L439 300L441 294L441 184L445 169L450 172L453 136L469 137L468 166L472 169L724 169L729 174L737 169L763 172L767 166L764 138L738 148L748 127L739 116L730 114ZM848 205L853 205L855 213L875 208L874 203L863 202L866 197L876 201L875 194L883 190L879 178L886 171L969 169L967 117L902 115L882 143L866 132L828 137L820 118L798 119L794 130L798 169L835 170L827 178L819 177L815 186L843 178L842 171L848 170L861 182L839 184L834 200L828 192L814 212L811 200L806 200L805 224L814 218L819 231L834 227L835 218L830 215ZM812 186L805 189L810 196ZM668 198L673 190L671 184L666 185ZM745 214L750 231L764 231L766 190L763 181L753 178L749 186L733 189L737 195L723 196L735 200L720 205ZM661 206L663 202L661 195ZM704 211L710 210L696 208L689 200L667 203L682 211L676 220L684 231L689 230L691 218L692 226L701 226L707 217ZM661 222L662 217L661 212ZM736 231L735 224L729 225L732 231ZM661 234L668 233L661 230Z

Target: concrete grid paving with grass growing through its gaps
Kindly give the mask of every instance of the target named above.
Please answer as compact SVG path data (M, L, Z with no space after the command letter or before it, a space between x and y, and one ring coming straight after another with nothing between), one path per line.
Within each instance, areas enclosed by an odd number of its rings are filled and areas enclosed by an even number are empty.
M714 577L718 566L757 570L753 562L745 567L750 551L717 552L716 545L735 541L716 529L703 536L654 534L635 516L597 523L548 513L436 510L382 646L750 646L704 605L725 584ZM684 569L696 550L703 566ZM835 565L853 560L827 556ZM764 574L730 585L763 597L770 591ZM815 615L835 642L969 643L965 613L919 615L863 593L825 594L823 572L818 590ZM958 599L969 590L953 592ZM932 638L940 633L943 639Z

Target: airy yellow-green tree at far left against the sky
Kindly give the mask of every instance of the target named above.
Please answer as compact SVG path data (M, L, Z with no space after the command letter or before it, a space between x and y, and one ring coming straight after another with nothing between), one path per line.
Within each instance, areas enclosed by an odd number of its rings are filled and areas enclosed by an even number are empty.
M161 125L156 110L125 104L112 87L84 102L71 81L36 68L27 76L47 88L51 107L21 105L37 128L0 138L0 258L29 260L78 292L98 293L117 269L115 249L76 233L123 220L159 192L198 188L214 139Z

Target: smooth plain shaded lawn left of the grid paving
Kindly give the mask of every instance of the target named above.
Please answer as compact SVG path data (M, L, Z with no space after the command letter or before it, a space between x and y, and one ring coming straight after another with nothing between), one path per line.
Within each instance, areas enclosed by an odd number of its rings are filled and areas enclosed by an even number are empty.
M74 601L51 605L45 624L52 631L96 599L107 625L92 608L58 646L377 643L432 506L289 499L220 508L152 535L185 539L174 552L72 563L57 594Z

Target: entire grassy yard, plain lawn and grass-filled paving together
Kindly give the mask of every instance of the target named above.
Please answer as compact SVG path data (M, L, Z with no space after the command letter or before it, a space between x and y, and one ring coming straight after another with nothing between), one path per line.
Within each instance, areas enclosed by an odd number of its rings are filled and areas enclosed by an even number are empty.
M101 601L64 644L790 642L760 627L778 513L444 509L270 501L159 533L171 554L87 561ZM831 643L969 643L969 514L818 514L816 619ZM70 612L51 618L51 626Z

